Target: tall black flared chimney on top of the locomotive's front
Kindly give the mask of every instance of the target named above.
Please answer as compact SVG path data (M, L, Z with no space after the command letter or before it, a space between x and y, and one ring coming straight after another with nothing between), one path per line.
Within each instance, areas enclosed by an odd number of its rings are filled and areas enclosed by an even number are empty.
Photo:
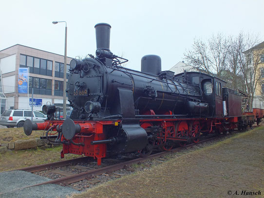
M102 50L110 50L110 29L108 23L98 23L94 26L96 35L96 47Z

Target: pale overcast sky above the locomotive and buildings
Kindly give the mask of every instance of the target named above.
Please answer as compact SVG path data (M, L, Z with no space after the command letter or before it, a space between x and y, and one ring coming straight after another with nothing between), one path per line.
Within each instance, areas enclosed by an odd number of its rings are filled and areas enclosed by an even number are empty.
M15 44L64 55L95 54L94 25L109 23L110 49L140 70L141 57L157 54L162 70L183 60L194 38L258 34L264 40L264 0L1 0L0 50Z

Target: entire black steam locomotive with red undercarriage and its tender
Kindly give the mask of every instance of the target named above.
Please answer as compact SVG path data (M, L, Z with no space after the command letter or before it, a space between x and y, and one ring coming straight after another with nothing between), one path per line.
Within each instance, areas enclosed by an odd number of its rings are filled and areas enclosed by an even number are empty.
M241 96L223 88L226 83L217 77L161 71L157 55L142 57L141 72L122 67L128 60L110 51L110 29L109 24L96 24L96 56L70 63L70 118L56 120L56 107L44 105L44 123L24 123L27 135L47 130L49 141L62 143L61 158L74 153L100 164L108 153L138 152L144 157L155 147L170 150L177 142L198 142L201 133L253 123L252 116L243 118ZM49 138L52 131L57 131L56 140Z

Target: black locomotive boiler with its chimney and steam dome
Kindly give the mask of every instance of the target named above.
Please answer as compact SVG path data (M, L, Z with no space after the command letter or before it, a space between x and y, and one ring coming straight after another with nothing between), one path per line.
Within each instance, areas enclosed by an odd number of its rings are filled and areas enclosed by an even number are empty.
M68 99L73 107L71 119L134 118L135 114L173 114L207 116L200 86L161 71L161 58L146 55L141 72L121 66L120 57L110 49L109 24L95 25L96 57L73 59L70 63ZM193 111L199 101L198 109Z

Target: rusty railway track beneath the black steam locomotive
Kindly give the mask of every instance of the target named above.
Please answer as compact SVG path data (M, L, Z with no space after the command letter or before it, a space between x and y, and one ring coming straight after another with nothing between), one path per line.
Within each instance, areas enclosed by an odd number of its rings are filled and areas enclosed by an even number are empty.
M255 127L257 127L257 126L255 126ZM21 189L29 188L29 187L33 187L33 186L44 185L44 184L69 185L69 184L72 184L72 183L75 183L75 182L78 182L78 181L81 181L81 180L85 180L85 179L89 180L89 179L93 178L94 176L102 175L104 173L109 173L109 172L117 171L117 170L124 169L124 168L126 169L127 167L131 166L132 164L137 164L137 163L145 162L145 161L148 161L148 160L160 158L162 156L168 155L169 153L175 153L175 152L181 151L183 149L190 148L190 147L192 147L194 145L202 144L202 143L205 143L207 141L216 140L216 139L219 139L219 138L222 138L222 137L226 137L226 136L228 136L228 134L227 135L220 135L220 136L211 137L211 138L208 138L208 139L205 139L205 140L201 140L201 141L199 141L196 144L188 144L188 145L183 146L183 147L177 147L177 148L171 149L170 151L158 152L158 153L152 154L152 155L150 155L148 157L145 157L145 158L135 158L135 159L132 159L132 160L127 160L125 162L121 162L120 160L114 160L114 159L106 159L106 160L111 160L111 161L116 162L116 163L112 164L112 165L107 165L105 167L98 167L98 168L95 168L95 169L77 165L78 168L83 167L84 170L86 169L84 172L77 173L77 174L66 173L66 172L60 171L60 170L57 170L57 171L51 170L51 172L54 172L56 174L59 174L59 175L65 176L65 177L57 178L55 180L49 180L49 181L38 183L38 184L34 184L34 185L29 185L29 186L23 187ZM91 159L91 158L82 157L82 158L76 158L76 159L73 159L73 160L67 160L67 161L61 161L61 162L53 162L53 163L36 165L36 166L30 166L30 167L20 168L20 169L17 169L17 170L23 170L23 171L35 173L35 172L44 171L44 170L47 170L47 169L50 170L50 169L54 169L54 168L57 168L57 167L69 166L69 165L74 165L74 164L78 164L78 163L85 163L85 162L89 161L89 159ZM87 170L87 169L90 169L90 170ZM72 187L74 187L74 186L72 186ZM76 189L77 190L82 190L82 189L78 189L78 188L76 188Z

